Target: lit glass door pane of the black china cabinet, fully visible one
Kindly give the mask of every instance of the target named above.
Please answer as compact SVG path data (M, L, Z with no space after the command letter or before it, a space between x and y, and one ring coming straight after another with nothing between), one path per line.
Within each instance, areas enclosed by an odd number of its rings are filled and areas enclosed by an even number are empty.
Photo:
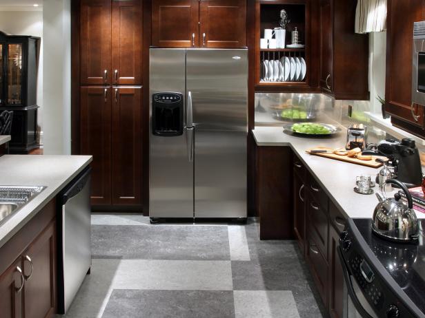
M22 105L22 44L8 44L8 105Z

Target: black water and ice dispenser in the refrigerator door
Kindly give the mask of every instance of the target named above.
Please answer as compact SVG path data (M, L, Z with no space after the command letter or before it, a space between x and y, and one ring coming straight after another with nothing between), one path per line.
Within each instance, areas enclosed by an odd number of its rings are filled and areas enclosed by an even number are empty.
M180 136L183 134L183 94L161 92L152 94L152 134Z

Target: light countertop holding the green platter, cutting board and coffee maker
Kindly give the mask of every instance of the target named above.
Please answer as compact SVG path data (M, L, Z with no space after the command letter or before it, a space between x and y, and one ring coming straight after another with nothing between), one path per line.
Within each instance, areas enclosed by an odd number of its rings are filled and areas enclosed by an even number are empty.
M369 174L375 176L379 169L354 165L348 162L312 156L306 149L317 146L342 148L346 143L346 128L330 138L302 138L290 136L282 127L255 127L253 136L259 146L288 146L301 158L308 171L313 174L324 188L330 200L348 218L372 218L378 200L375 195L355 193L356 176ZM377 187L373 188L375 192ZM425 218L424 213L417 212L418 218Z

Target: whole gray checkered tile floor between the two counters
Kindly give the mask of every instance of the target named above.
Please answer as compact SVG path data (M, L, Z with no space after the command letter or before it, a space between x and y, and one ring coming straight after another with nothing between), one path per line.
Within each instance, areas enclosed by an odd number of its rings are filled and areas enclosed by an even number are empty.
M294 241L258 224L155 224L92 215L92 270L70 318L323 317Z

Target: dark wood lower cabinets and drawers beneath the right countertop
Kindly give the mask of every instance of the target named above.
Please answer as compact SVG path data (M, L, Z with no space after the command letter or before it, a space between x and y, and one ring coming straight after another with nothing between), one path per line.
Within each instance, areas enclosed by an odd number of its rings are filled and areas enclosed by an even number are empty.
M344 215L289 147L255 149L260 239L290 239L292 224L324 307L330 317L342 318L344 277L337 248Z

